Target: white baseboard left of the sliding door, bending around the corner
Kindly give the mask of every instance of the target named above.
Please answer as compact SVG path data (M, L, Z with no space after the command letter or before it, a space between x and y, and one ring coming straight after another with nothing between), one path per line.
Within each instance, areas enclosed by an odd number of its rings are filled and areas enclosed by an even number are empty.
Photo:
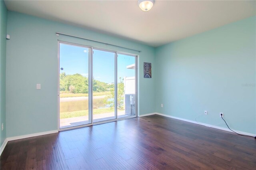
M51 133L58 133L58 130L50 130L50 131L46 131L46 132L39 132L39 133L33 133L33 134L25 134L25 135L21 135L21 136L14 136L14 137L9 137L6 138L4 140L4 143L2 144L1 148L0 148L0 155L2 154L6 144L8 141L11 140L18 140L18 139L23 139L23 138L30 138L30 137L34 137L34 136L41 136L41 135L45 135L45 134L51 134Z

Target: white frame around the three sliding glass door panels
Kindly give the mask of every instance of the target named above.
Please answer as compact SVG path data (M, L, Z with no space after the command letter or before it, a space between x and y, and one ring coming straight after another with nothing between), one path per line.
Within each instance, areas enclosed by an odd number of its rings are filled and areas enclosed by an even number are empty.
M67 45L74 45L78 47L86 47L90 49L90 56L88 59L89 65L88 65L88 119L89 119L89 124L86 125L79 125L79 126L74 126L74 127L68 127L68 128L60 128L60 43L67 44ZM115 53L115 59L114 59L114 83L115 83L115 95L114 95L114 103L115 103L115 119L107 120L107 121L100 121L100 122L93 122L93 50L102 50L102 51L107 51L107 52L112 52ZM118 109L117 109L117 93L118 93L118 80L117 80L117 71L118 71L118 54L122 55L129 55L132 57L135 57L135 115L134 116L129 116L129 117L123 117L123 118L118 118ZM65 131L65 130L70 130L70 129L76 129L76 128L82 128L82 127L88 127L92 125L99 125L103 123L109 123L109 122L114 122L114 121L119 121L119 120L124 120L124 119L131 119L134 117L138 117L138 55L132 54L132 53L126 53L122 51L115 51L111 49L105 49L101 47L93 47L89 45L84 45L84 44L79 44L79 43L73 43L73 42L66 42L66 41L61 41L58 40L58 94L57 94L57 101L58 101L58 131Z

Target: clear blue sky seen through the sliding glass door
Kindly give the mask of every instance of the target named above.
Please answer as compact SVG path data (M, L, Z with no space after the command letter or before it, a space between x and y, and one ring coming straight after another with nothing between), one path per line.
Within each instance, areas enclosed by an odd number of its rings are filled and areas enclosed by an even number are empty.
M79 73L88 77L89 49L74 45L60 43L60 73ZM114 56L115 53L94 49L93 54L93 77L105 83L114 83ZM127 69L127 65L135 63L135 57L129 55L118 55L118 82L119 77L132 77L134 69Z

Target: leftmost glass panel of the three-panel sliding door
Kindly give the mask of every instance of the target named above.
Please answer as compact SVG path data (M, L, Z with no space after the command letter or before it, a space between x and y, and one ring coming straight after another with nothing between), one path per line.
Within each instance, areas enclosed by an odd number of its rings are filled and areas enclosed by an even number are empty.
M60 43L60 128L90 124L90 48Z

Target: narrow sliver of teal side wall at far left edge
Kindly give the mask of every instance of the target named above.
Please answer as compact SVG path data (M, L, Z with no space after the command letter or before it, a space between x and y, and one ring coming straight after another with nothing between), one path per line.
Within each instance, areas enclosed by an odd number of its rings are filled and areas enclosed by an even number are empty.
M0 146L6 139L6 30L7 9L0 1ZM1 126L4 123L4 130Z

